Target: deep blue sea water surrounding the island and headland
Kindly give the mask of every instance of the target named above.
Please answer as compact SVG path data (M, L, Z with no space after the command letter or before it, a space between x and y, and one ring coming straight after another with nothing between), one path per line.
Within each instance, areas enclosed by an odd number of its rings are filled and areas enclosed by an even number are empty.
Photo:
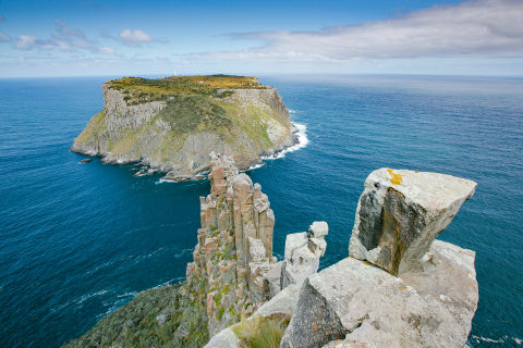
M0 347L58 347L138 291L180 282L208 182L133 177L69 151L109 77L0 79ZM314 220L321 266L346 257L365 177L388 166L474 179L439 238L476 254L470 346L523 339L523 80L264 77L309 144L248 174L276 214L275 252Z

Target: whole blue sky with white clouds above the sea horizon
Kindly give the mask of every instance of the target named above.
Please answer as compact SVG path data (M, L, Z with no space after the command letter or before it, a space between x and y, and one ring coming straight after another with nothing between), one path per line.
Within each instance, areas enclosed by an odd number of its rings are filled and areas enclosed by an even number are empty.
M523 76L523 0L0 0L0 77Z

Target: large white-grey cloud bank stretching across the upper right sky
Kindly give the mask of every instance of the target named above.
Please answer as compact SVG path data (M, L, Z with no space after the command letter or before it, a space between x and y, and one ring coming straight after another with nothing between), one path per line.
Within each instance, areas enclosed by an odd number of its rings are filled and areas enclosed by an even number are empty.
M523 54L523 1L478 0L417 10L404 16L317 32L234 34L263 46L212 52L214 58L343 61L422 57Z

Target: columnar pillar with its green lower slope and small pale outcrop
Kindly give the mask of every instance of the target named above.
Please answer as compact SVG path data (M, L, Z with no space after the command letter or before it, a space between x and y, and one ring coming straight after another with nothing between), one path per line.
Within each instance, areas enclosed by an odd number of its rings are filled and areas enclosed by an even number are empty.
M210 158L211 188L200 197L202 227L186 281L139 294L69 347L203 347L242 318L270 310L275 304L267 309L264 303L297 291L316 273L327 248L327 224L315 222L308 233L289 235L293 241L278 261L268 197L239 173L232 158L212 152Z

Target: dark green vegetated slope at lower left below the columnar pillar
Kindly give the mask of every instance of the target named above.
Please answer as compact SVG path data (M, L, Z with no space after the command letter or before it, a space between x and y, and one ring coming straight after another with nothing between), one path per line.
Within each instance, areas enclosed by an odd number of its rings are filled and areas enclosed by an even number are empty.
M208 341L204 304L183 297L182 286L138 294L65 347L203 347Z

